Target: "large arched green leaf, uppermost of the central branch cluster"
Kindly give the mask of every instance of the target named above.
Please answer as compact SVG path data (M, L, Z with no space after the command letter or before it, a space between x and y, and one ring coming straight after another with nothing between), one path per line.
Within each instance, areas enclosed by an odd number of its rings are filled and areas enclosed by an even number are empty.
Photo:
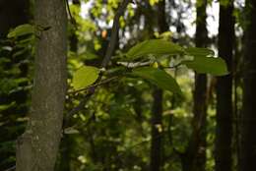
M133 46L126 56L130 60L138 59L149 54L153 55L177 55L184 52L183 48L179 45L163 40L163 39L151 39L143 41Z

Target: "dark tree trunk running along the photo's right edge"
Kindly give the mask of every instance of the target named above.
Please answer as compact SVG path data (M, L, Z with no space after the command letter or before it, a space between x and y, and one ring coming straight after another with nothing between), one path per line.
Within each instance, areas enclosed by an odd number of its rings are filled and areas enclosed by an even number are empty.
M256 170L256 1L246 0L240 171Z

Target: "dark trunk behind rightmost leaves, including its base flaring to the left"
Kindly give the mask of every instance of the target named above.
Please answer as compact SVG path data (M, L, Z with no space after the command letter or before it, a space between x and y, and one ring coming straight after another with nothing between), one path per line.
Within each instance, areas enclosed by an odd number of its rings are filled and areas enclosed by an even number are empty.
M197 1L196 47L206 47L207 0ZM204 171L206 166L206 115L207 115L207 76L195 73L193 132L184 155L182 155L183 171Z

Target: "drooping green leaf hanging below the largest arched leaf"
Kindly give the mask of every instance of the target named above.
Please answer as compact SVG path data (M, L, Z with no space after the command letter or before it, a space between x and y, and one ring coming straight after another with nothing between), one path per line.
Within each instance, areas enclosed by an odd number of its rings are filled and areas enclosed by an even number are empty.
M176 81L165 71L153 67L141 67L134 69L132 75L141 77L160 86L162 89L181 94L181 89Z

